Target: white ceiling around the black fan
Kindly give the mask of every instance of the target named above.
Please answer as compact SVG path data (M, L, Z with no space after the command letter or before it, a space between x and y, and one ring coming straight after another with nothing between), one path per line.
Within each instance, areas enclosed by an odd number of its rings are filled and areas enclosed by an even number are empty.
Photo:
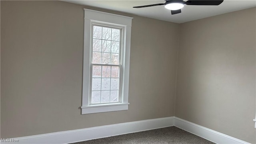
M64 0L76 4L115 10L165 20L169 22L183 23L198 20L218 14L234 12L256 6L256 0L224 0L219 6L191 6L184 5L180 14L172 15L170 10L164 6L152 6L147 8L132 8L133 6L143 6L148 4L165 3L164 0ZM186 1L186 0L184 0Z

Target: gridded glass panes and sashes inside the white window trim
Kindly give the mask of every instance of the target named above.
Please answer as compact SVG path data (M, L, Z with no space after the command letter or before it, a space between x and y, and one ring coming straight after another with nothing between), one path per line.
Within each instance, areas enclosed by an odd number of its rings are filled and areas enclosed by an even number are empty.
M89 104L121 102L122 33L115 25L92 23Z

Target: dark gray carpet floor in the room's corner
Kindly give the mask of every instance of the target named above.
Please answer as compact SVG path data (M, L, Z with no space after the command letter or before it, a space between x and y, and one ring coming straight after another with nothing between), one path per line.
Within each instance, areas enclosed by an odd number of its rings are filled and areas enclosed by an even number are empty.
M175 126L72 144L214 144Z

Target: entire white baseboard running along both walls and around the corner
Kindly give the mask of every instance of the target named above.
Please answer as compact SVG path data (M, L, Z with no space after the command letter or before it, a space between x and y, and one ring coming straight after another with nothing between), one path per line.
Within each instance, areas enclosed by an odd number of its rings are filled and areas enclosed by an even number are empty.
M34 136L25 136L13 138L18 142L2 142L2 144L67 144L72 142L80 142L92 140L96 138L105 138L121 134L164 128L168 126L176 126L186 130L192 134L215 142L217 144L249 144L237 138L233 138L226 134L216 132L209 128L199 126L192 122L177 118L156 118L151 120L141 120L136 122L126 122L121 124L112 124L107 126L97 126L93 128L84 128L79 130L68 130L63 132L54 132L48 134L39 134Z

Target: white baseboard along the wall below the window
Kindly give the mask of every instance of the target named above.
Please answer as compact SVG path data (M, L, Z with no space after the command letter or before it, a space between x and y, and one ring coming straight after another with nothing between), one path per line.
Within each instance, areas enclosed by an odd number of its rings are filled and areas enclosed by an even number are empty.
M107 126L97 126L93 128L84 128L79 130L68 130L64 132L54 132L40 134L35 136L25 136L14 138L18 142L1 142L1 144L67 144L92 140L96 138L105 138L121 134L152 130L173 126L174 117L156 118L151 120L141 120L136 122L126 122L121 124L112 124Z

